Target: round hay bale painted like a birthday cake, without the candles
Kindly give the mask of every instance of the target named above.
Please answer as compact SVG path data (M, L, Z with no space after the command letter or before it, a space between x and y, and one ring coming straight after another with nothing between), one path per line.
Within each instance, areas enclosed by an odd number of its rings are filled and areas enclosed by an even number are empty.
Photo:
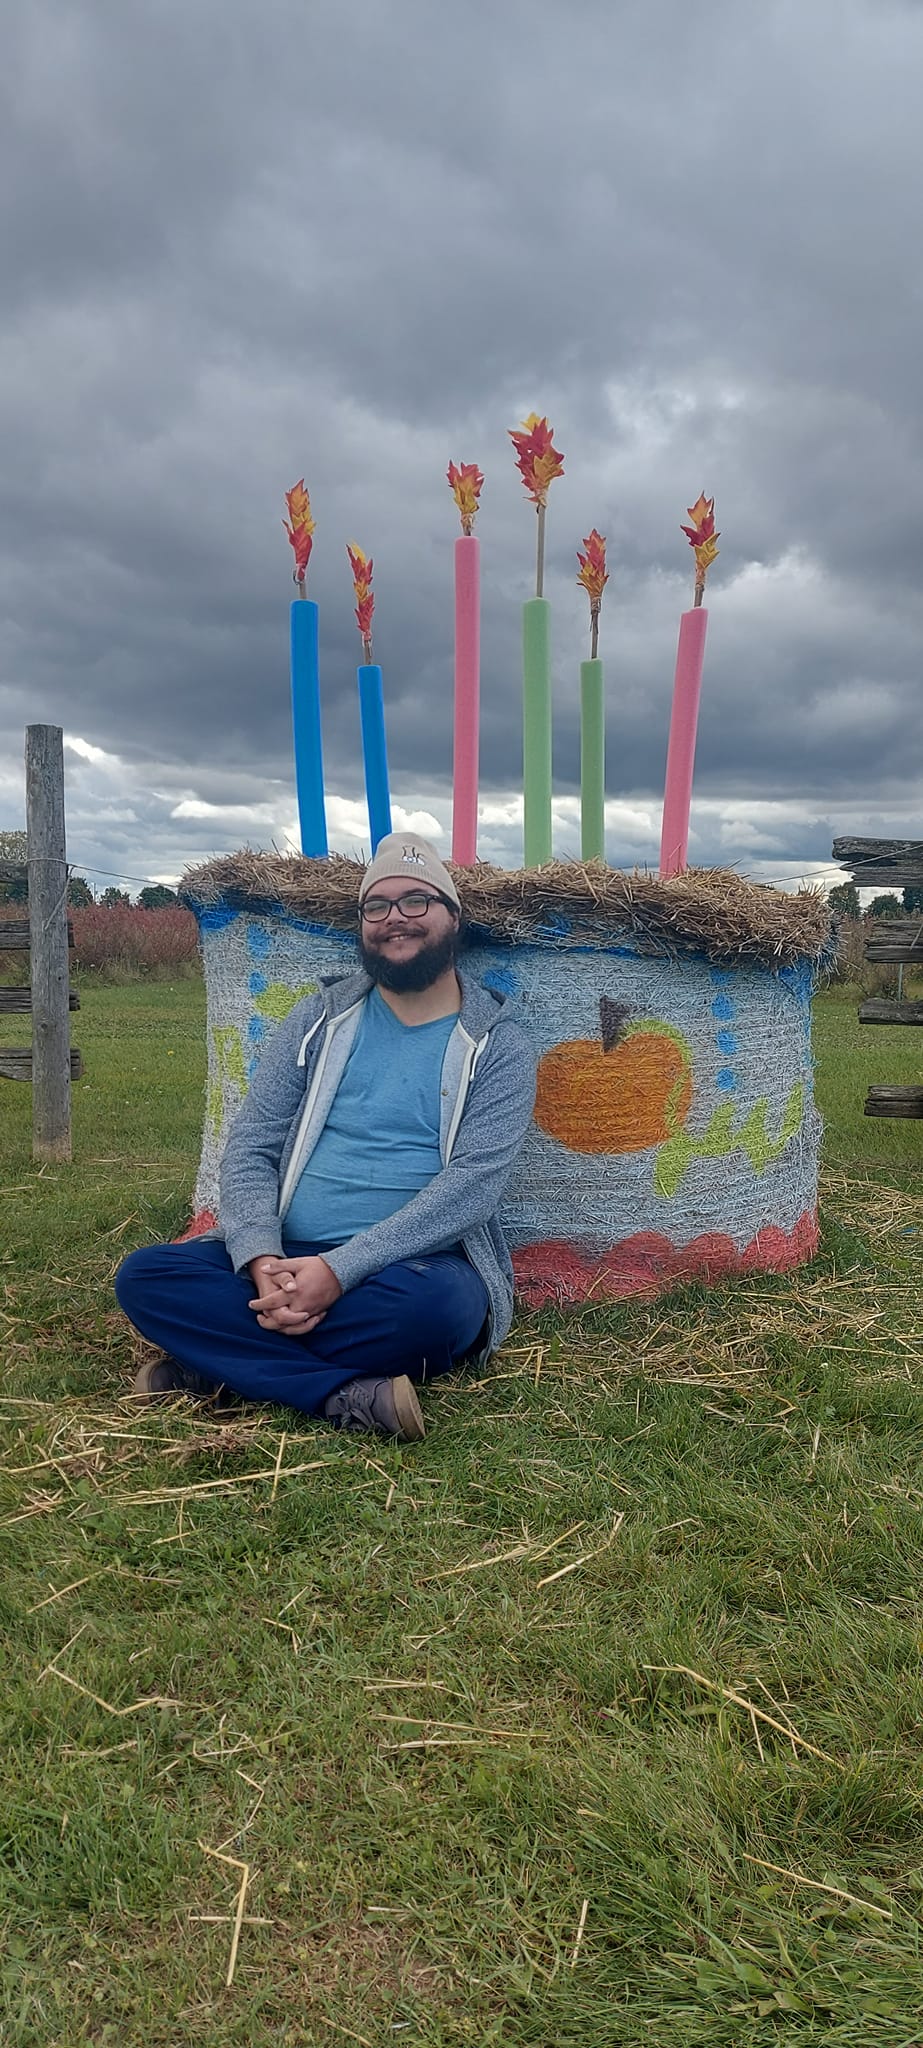
M201 1227L268 1034L323 975L354 965L360 872L235 854L186 877L209 997ZM538 1053L534 1126L503 1208L522 1298L587 1300L810 1257L823 899L720 870L659 881L596 862L477 866L458 887L463 967L518 999Z

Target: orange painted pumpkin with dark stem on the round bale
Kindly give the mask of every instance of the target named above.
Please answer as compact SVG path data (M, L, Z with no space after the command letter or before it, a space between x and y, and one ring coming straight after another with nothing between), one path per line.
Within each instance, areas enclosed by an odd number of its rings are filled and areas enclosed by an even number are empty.
M577 1153L663 1145L686 1122L692 1059L682 1032L600 997L600 1038L565 1038L538 1061L536 1124Z

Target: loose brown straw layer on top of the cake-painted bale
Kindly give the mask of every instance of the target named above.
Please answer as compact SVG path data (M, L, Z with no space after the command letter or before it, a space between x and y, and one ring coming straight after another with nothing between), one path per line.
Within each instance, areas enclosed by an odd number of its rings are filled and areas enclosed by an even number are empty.
M362 862L334 854L260 854L244 848L188 868L180 895L192 909L217 903L354 930ZM469 936L522 946L608 946L639 952L790 967L831 956L833 920L817 889L784 895L729 868L690 868L661 881L602 862L555 860L542 868L454 870Z

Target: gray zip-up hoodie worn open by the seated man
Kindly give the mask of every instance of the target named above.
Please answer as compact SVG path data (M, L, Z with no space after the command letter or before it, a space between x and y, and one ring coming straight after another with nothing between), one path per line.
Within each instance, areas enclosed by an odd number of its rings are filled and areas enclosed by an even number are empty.
M458 977L463 1006L442 1059L442 1169L403 1208L323 1257L344 1292L397 1260L460 1243L489 1294L485 1356L512 1321L514 1274L497 1210L526 1137L536 1059L510 1001ZM289 1012L262 1053L221 1159L219 1233L235 1272L282 1251L301 1171L338 1092L368 975L329 981Z

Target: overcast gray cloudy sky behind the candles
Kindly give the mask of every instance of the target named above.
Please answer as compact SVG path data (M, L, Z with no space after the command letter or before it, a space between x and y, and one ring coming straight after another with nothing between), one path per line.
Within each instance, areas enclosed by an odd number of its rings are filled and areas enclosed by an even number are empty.
M548 414L557 850L575 549L608 535L608 852L657 860L679 532L720 559L690 858L923 836L919 0L29 0L0 80L0 825L63 725L74 860L295 834L284 489L317 518L332 840L364 844L348 539L399 817L448 831L448 457L485 471L481 848L518 862ZM444 840L446 844L446 840Z

